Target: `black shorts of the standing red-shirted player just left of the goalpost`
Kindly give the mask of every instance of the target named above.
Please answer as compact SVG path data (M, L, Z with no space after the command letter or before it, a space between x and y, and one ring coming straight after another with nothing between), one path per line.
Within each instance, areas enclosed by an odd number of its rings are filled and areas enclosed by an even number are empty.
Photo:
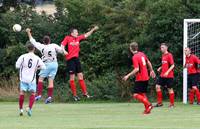
M174 82L173 78L159 77L156 84L166 88L173 88L173 82Z

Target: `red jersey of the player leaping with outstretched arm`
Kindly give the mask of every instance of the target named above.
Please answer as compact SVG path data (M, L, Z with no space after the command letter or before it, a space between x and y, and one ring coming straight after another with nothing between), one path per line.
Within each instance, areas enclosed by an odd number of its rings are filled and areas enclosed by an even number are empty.
M80 41L85 39L85 35L80 35L78 37L73 36L66 36L64 40L62 41L62 45L66 46L68 45L68 55L65 55L65 58L67 60L70 60L73 57L79 57L79 51L80 51Z

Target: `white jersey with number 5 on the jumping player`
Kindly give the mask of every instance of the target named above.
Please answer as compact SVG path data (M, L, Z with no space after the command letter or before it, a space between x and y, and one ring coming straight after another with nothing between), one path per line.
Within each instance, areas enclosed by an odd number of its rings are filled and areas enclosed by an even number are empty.
M57 53L63 53L62 48L57 44L41 44L36 42L34 38L31 38L30 42L41 52L42 60L45 63L57 62Z

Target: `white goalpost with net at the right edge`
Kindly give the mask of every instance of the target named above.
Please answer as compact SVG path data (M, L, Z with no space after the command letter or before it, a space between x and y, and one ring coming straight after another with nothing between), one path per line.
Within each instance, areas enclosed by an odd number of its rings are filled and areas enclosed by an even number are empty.
M189 47L200 57L200 19L184 19L183 66L185 64L184 48ZM183 70L183 103L187 103L187 69Z

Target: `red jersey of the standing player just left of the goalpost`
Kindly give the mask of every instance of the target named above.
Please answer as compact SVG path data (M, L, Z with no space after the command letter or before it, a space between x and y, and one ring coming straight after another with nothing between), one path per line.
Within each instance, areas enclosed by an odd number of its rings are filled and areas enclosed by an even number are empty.
M168 74L168 76L164 76L164 74L167 72L167 70L170 68L171 65L174 64L174 59L173 59L173 55L171 53L167 53L167 54L163 54L162 55L162 70L161 70L161 74L160 77L163 78L174 78L174 70L171 70Z

